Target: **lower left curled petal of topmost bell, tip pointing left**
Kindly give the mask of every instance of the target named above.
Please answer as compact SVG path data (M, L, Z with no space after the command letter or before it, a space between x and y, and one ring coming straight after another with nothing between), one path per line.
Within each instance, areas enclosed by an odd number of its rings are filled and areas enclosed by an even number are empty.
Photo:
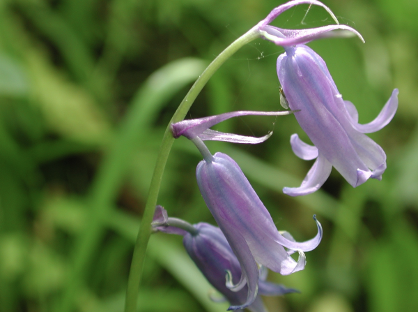
M312 168L309 170L307 177L304 178L302 184L298 188L283 188L283 193L290 196L300 196L314 193L322 186L332 170L332 164L319 154Z

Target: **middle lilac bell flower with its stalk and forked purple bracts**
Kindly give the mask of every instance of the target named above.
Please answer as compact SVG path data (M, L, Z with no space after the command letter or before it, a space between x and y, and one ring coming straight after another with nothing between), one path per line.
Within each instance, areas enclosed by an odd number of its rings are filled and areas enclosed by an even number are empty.
M226 117L242 114L254 114L254 112L239 112L239 114L232 112L205 119L181 121L172 124L171 130L175 137L185 135L192 140L203 155L204 160L196 168L199 189L212 216L238 258L242 271L240 281L235 285L231 281L229 288L238 291L247 285L245 304L249 305L254 302L257 295L257 263L283 275L304 269L306 264L304 252L318 246L322 238L322 228L314 216L318 227L318 234L314 239L297 243L287 233L281 235L238 164L226 154L216 153L213 156L210 154L203 143L203 139L207 140L208 127ZM257 112L257 114L273 113ZM228 142L242 142L241 139L239 135L222 134L222 140ZM252 142L260 139L245 140ZM288 248L288 251L285 248ZM291 258L291 254L295 251L299 253L297 261Z

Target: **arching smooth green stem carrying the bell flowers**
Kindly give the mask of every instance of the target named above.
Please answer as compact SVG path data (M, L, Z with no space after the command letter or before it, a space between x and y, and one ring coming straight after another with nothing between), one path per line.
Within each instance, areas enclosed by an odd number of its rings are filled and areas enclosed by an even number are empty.
M229 47L226 47L216 59L210 63L208 68L203 71L199 78L194 82L192 88L189 90L183 101L178 106L176 112L173 114L169 126L162 138L160 152L157 156L157 163L155 164L153 178L151 179L150 190L148 193L148 200L146 202L144 216L142 217L141 226L139 227L137 242L134 246L134 254L132 256L132 263L130 267L130 274L127 281L125 312L135 312L137 310L137 297L139 284L141 283L142 269L144 267L144 260L146 248L150 239L151 222L153 221L155 206L157 205L158 193L160 192L160 184L162 174L169 158L171 147L173 146L174 138L171 135L170 124L182 121L194 100L199 95L200 91L205 86L206 82L212 77L216 70L224 64L240 47L246 45L252 40L259 37L258 29L256 27L247 31L246 34L235 40Z

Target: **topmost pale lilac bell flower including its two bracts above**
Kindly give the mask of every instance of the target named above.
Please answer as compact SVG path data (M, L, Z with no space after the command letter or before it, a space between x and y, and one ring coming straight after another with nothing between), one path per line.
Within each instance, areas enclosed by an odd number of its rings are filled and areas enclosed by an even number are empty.
M355 29L339 24L302 30L269 25L284 10L300 3L323 6L338 23L323 3L296 0L272 10L258 24L258 31L263 38L284 47L285 53L277 59L277 75L283 88L280 102L295 111L297 121L314 143L314 146L310 146L296 134L292 135L294 153L304 160L316 158L316 162L300 187L285 187L283 191L291 196L313 193L325 183L333 166L353 187L369 178L382 179L386 169L385 152L364 133L379 131L392 120L398 107L398 89L394 89L375 120L369 124L359 124L355 106L343 101L325 61L301 43L327 36L346 36L349 31L361 40L363 38ZM340 31L336 31L338 29Z

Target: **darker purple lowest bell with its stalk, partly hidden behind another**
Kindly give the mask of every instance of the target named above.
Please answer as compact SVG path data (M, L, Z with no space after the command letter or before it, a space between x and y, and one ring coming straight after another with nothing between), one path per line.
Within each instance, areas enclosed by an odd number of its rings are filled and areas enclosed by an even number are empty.
M167 211L157 206L153 219L153 230L169 234L183 235L183 244L190 258L200 269L202 274L232 305L229 309L244 309L247 300L247 287L238 292L226 286L225 274L233 281L238 281L241 275L240 264L234 255L225 236L219 228L208 223L189 224L178 218L169 218ZM260 295L285 295L297 290L286 288L284 285L265 281L267 270L261 269L258 280L258 295L248 307L253 312L264 312Z

